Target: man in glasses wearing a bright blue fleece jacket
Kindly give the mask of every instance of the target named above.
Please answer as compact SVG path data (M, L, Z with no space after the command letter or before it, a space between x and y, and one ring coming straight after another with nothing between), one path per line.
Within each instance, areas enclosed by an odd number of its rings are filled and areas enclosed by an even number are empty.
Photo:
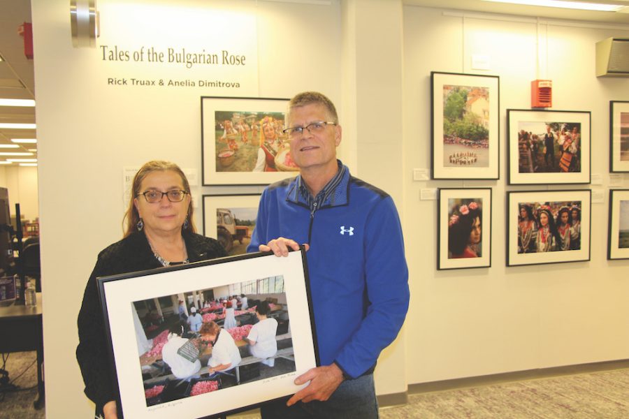
M306 244L321 367L310 383L263 418L377 418L373 369L408 309L408 270L393 200L336 159L342 130L333 103L316 92L291 99L284 133L299 167L260 200L247 251Z

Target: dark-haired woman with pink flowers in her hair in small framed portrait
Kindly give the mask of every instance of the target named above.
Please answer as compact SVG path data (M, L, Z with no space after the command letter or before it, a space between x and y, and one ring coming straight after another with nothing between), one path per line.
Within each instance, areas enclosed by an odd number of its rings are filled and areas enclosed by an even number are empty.
M453 212L448 222L449 258L478 258L481 241L482 214L479 205L472 201L461 205L458 214Z

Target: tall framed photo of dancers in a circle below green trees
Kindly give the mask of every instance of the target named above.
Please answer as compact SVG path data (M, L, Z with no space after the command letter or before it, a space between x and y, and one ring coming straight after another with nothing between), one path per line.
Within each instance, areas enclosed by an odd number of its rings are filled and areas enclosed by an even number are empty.
M500 79L431 73L433 179L498 179Z

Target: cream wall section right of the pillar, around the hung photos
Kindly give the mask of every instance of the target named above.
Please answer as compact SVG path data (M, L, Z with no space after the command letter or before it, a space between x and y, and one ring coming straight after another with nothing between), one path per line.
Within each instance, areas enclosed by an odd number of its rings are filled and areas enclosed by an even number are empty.
M629 262L606 260L609 101L629 99L629 79L594 73L595 43L610 36L626 38L629 26L404 8L409 383L629 358ZM489 71L472 70L473 54L489 57ZM431 164L431 71L500 76L498 181L412 180L413 168ZM530 109L537 78L553 81L553 110L592 112L592 174L602 184L506 184L506 110ZM493 189L490 268L436 270L437 201L420 193L439 187ZM591 261L505 267L505 191L589 188L605 196L592 204Z

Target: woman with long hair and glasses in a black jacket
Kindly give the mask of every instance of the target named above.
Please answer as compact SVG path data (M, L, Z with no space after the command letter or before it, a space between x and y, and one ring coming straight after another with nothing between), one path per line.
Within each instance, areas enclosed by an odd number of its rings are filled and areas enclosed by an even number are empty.
M83 295L76 348L96 416L118 417L96 277L226 256L217 240L195 233L191 201L188 180L175 163L145 163L133 178L124 237L99 253Z

